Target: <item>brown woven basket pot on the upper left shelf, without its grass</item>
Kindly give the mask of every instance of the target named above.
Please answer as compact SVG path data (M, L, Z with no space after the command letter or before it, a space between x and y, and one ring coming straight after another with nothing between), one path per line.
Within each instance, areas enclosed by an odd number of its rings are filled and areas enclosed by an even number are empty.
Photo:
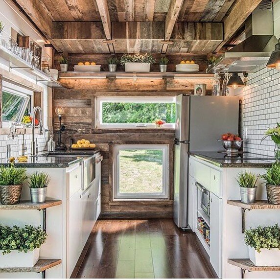
M20 203L23 185L0 186L0 201L3 205Z

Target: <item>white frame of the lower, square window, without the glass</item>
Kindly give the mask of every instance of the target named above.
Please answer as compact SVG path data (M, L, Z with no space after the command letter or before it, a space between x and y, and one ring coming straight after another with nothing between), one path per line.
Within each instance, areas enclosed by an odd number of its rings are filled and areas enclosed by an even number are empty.
M154 149L163 150L163 192L162 193L119 193L119 151L123 149ZM113 164L113 200L114 201L139 201L169 199L169 146L167 144L123 144L114 146Z

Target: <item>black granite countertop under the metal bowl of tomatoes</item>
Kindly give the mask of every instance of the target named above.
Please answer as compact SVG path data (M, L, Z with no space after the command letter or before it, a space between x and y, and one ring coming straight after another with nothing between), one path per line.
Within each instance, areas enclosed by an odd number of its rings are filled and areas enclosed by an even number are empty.
M275 162L273 157L254 154L240 153L238 156L229 157L221 152L188 152L190 156L214 164L218 167L269 167Z

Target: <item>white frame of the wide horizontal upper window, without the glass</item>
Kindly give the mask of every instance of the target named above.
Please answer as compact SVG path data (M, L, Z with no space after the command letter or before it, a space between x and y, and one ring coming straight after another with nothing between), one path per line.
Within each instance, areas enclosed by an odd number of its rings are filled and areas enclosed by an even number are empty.
M175 103L173 96L100 96L96 98L97 128L156 128L154 123L102 123L103 102L137 102L137 103ZM175 128L175 123L165 123L163 128Z

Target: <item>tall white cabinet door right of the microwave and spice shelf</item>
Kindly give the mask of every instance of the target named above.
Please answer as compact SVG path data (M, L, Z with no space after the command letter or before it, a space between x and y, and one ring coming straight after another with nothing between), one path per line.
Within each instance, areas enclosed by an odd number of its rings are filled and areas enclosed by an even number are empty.
M210 193L210 263L222 276L222 199Z

